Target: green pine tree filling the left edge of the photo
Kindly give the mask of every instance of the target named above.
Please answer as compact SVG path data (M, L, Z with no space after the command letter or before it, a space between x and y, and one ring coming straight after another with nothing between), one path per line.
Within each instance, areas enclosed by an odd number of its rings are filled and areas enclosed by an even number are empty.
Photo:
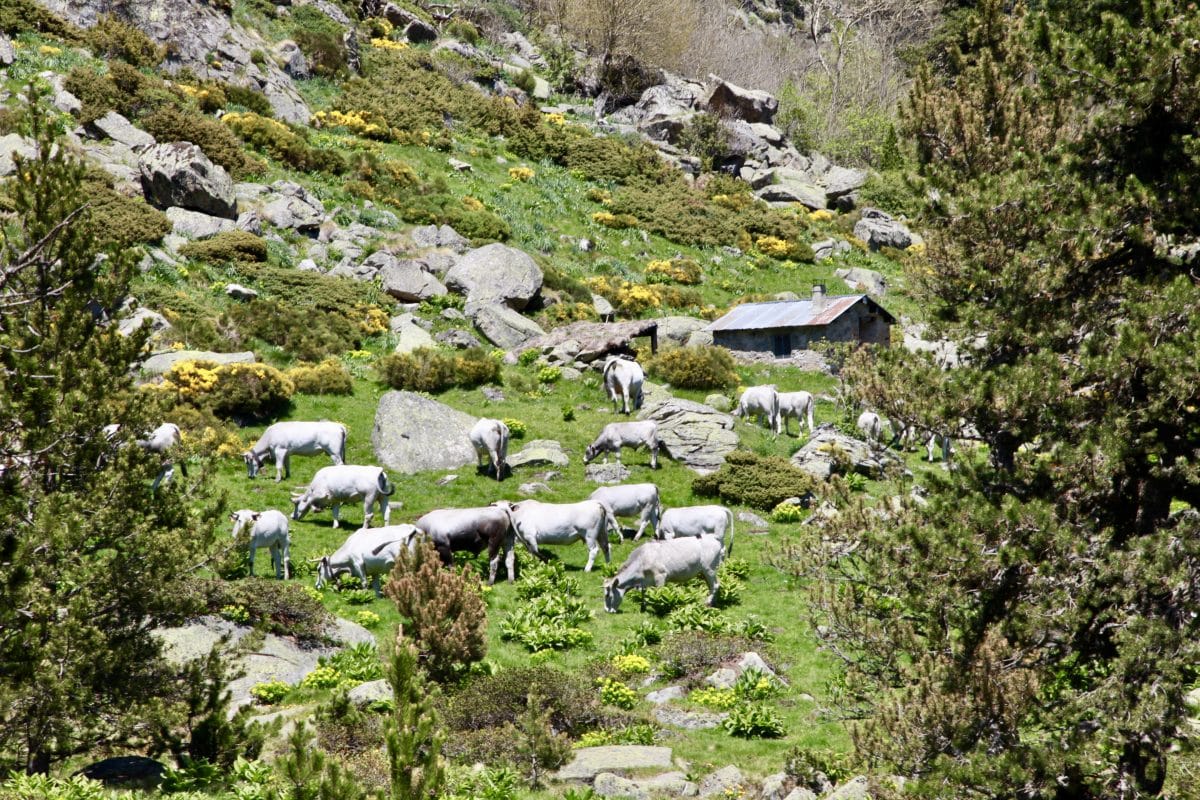
M32 107L41 102L30 89ZM151 501L156 461L112 422L157 425L132 386L145 333L124 337L136 253L98 252L82 224L84 167L31 113L0 251L0 771L130 734L164 691L150 630L209 546L203 479Z

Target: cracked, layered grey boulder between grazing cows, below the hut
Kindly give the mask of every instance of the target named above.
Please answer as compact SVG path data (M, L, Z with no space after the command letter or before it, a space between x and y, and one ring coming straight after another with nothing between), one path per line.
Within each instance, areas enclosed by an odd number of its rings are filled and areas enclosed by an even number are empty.
M659 440L671 458L701 475L719 469L738 446L733 417L703 403L678 397L652 402L647 397L637 419L658 422Z

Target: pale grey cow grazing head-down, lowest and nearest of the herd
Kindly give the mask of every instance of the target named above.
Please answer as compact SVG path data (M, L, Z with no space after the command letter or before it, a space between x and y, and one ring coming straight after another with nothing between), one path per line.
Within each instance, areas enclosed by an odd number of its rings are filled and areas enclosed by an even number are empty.
M703 576L708 583L708 604L712 606L720 588L716 569L721 566L724 558L721 543L712 536L649 541L640 545L620 565L617 575L605 582L604 608L616 614L622 599L630 589L683 583L697 575Z

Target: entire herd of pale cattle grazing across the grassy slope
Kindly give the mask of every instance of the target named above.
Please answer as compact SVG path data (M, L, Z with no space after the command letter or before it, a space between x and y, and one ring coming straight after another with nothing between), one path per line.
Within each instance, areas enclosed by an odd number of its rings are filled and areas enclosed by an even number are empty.
M644 375L636 361L611 357L604 366L604 384L613 410L630 414L642 405ZM757 419L779 434L787 432L787 421L797 420L799 429L806 422L814 431L814 397L805 391L779 392L774 386L746 389L734 410L734 415L748 420ZM908 432L895 432L895 440ZM864 411L858 419L858 428L874 444L881 444L884 422L877 414ZM118 428L106 429L109 438ZM470 509L437 509L424 515L413 524L391 525L389 498L395 487L379 467L346 464L347 428L340 422L277 422L259 437L258 441L242 453L248 477L258 475L266 459L275 462L276 482L290 475L293 455L310 456L326 453L334 462L317 471L307 488L293 494L292 519L302 519L310 511L331 509L334 528L340 523L340 510L347 503L362 503L362 527L352 534L332 554L317 561L317 588L322 588L338 575L349 573L364 588L372 583L379 591L379 578L392 569L400 553L414 549L422 539L428 540L446 566L454 563L455 552L479 554L487 551L488 584L494 583L503 557L508 579L516 573L515 547L520 541L526 549L540 554L544 546L562 546L582 541L588 548L584 571L590 571L596 555L604 553L611 561L610 534L622 536L618 518L636 518L634 541L654 530L654 540L641 545L605 583L605 608L616 612L622 597L630 589L661 587L668 582L689 581L702 576L708 583L709 603L716 595L716 569L726 553L733 548L733 515L725 506L701 505L670 509L664 512L659 489L654 483L629 483L605 486L578 503L542 503L498 500L487 506ZM508 473L508 446L510 432L500 420L481 419L469 432L470 443L478 455L481 471L503 480ZM930 435L928 449L932 459L935 441L943 446L943 458L948 453L948 439ZM174 469L170 450L180 443L179 428L163 423L148 438L137 440L143 449L163 457L162 470L154 488L169 480ZM650 468L658 468L658 428L653 421L613 422L604 426L595 440L584 451L584 463L590 463L610 453L620 463L624 447L649 451ZM180 462L181 469L184 468ZM186 475L186 471L185 471ZM373 507L378 505L383 515L383 527L371 528ZM254 554L269 548L271 564L277 578L288 577L290 537L288 516L277 510L253 511L242 509L233 512L233 536L247 536L250 541L250 573L254 573ZM726 535L728 545L726 547Z

